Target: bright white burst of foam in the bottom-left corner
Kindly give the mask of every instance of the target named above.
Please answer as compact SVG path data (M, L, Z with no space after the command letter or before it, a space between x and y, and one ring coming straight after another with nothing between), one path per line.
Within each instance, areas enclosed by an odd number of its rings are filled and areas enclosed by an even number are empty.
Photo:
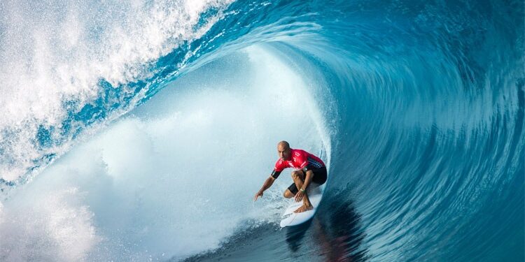
M0 209L1 261L81 261L99 238L75 187L32 187Z

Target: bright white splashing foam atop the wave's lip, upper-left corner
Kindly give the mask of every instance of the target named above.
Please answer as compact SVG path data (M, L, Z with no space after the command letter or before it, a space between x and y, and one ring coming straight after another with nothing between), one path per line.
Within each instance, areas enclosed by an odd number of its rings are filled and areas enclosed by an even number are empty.
M97 82L111 85L151 75L148 64L185 41L206 33L217 17L194 30L200 14L226 1L3 1L0 8L0 163L4 180L15 180L31 160L57 149L35 146L38 126L66 116L63 103L80 110L99 96ZM220 16L220 14L218 15Z

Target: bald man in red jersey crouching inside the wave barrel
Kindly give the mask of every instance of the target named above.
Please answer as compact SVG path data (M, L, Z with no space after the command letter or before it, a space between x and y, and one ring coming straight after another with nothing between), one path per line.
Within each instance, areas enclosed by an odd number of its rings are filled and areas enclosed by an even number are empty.
M306 152L304 150L294 150L290 148L290 144L286 141L281 141L277 144L277 153L279 160L275 163L275 168L262 187L259 189L253 201L262 196L262 193L272 187L284 168L295 168L292 172L293 183L284 191L285 198L292 198L295 196L295 201L302 201L302 206L297 208L294 212L300 213L311 210L314 207L311 205L306 190L308 187L318 187L326 182L326 166L325 163L318 157Z

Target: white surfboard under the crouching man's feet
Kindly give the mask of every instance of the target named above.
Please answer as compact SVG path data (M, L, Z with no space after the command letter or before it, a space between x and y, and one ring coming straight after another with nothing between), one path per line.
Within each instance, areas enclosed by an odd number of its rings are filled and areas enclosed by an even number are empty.
M314 209L300 213L294 213L297 208L301 207L302 201L295 202L294 198L290 198L288 200L290 201L290 205L288 205L288 208L286 208L281 217L281 228L286 226L297 226L306 221L309 221L312 217L314 217L319 203L321 203L321 198L323 198L323 186L307 190L307 194L311 205L314 206Z

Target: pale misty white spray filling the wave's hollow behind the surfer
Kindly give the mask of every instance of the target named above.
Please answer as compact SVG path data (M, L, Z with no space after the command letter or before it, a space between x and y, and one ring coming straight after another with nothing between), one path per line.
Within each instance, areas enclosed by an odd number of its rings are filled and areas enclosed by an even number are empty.
M275 54L251 48L174 82L12 196L0 209L0 234L12 236L4 254L26 246L20 233L32 247L22 254L49 260L69 248L63 239L83 243L71 260L182 259L218 247L246 219L277 222L289 173L252 202L277 159L276 143L329 147L303 77ZM53 204L34 206L40 199ZM37 222L53 211L56 233ZM18 217L26 219L5 222ZM63 217L73 219L65 224Z

